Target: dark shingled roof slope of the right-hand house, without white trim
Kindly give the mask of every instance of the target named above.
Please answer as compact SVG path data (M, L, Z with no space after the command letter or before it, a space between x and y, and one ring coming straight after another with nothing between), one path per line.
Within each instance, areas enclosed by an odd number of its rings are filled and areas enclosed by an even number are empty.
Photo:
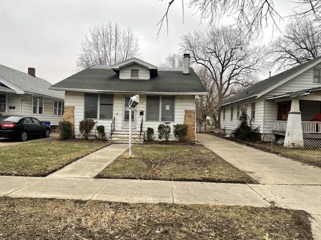
M291 76L292 74L296 73L297 71L303 69L304 67L308 65L312 65L313 63L317 62L319 59L321 59L321 56L316 57L312 60L306 61L300 65L294 66L286 71L282 71L274 76L271 76L269 78L266 78L262 81L259 81L252 86L246 88L245 90L241 91L240 93L232 96L231 98L225 100L222 105L232 103L235 101L239 101L244 98L250 98L255 97L257 94L261 93L262 91L266 90L267 88L277 84L278 82L282 81L286 77Z

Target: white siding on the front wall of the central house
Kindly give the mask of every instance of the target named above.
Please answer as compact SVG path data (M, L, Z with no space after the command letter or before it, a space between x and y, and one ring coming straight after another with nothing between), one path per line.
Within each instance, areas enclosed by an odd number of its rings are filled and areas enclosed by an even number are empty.
M125 95L114 94L113 102L113 117L115 117L115 130L122 130L122 120L123 120L123 99ZM135 107L136 121L135 128L137 131L140 130L141 119L143 119L143 131L147 127L154 128L155 139L157 139L157 127L161 121L146 121L146 95L139 95L140 103ZM74 106L74 117L75 117L75 136L79 136L79 121L84 118L84 93L83 92L67 92L65 96L65 105ZM184 123L185 110L194 110L194 96L176 96L175 99L175 122L172 122L170 125L177 123ZM139 115L139 110L144 111L144 115L141 117ZM97 120L97 125L104 125L106 135L109 136L110 133L110 124L112 120Z

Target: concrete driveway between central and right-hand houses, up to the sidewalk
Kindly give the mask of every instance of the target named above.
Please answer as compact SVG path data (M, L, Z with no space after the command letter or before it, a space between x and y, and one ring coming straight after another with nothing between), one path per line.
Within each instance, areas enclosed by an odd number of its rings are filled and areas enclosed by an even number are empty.
M321 184L321 168L264 152L210 134L197 140L263 184Z

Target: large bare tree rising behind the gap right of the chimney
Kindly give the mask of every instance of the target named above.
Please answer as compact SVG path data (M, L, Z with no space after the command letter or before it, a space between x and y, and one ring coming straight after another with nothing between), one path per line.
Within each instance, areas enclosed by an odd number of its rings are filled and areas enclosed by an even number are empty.
M233 27L212 27L182 37L182 50L191 53L192 63L206 68L216 88L217 106L237 93L237 86L251 85L262 66L261 47L250 46L248 38ZM220 109L217 110L220 125Z

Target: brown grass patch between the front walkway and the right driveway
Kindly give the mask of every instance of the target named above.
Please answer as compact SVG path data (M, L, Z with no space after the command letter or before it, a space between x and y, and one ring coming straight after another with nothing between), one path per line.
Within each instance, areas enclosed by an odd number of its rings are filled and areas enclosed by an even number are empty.
M201 144L141 144L117 157L96 177L256 183Z

